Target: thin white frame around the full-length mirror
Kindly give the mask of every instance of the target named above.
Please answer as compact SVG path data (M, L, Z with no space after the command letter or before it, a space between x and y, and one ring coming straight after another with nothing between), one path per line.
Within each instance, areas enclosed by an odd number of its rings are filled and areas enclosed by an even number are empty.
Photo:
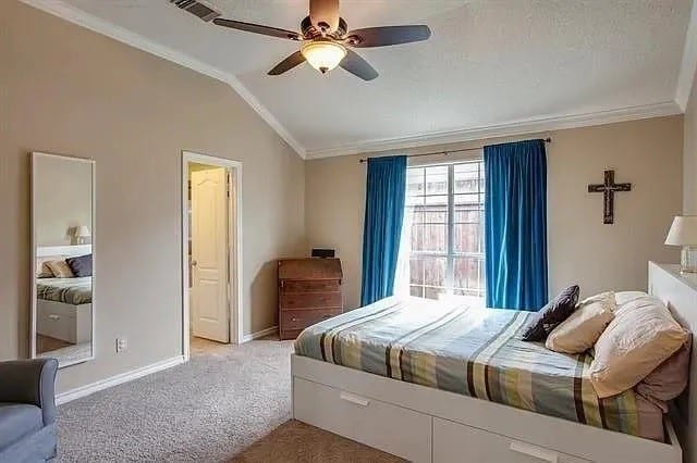
M64 368L66 366L71 366L71 365L77 365L80 363L85 363L85 362L89 362L90 360L95 360L96 358L96 342L95 342L95 295L96 295L96 278L95 278L95 268L96 268L96 260L95 260L95 245L96 245L96 240L95 240L95 236L97 235L96 233L96 222L97 222L97 216L96 216L96 212L97 212L97 195L96 195L96 189L97 189L97 174L96 174L96 168L97 168L97 164L95 162L95 160L93 159L88 159L88 158L77 158L77 157L71 157L71 155L64 155L64 154L53 154L53 153L47 153L47 152L40 152L40 151L33 151L29 153L30 155L30 164L32 164L32 195L30 195L30 202L32 202L32 217L30 217L30 223L29 226L32 228L30 233L32 233L32 300L30 300L30 321L29 321L29 354L32 359L36 359L36 335L37 335L37 301L36 301L36 297L37 297L37 290L36 290L36 284L37 284L37 278L36 278L36 259L37 259L37 242L36 242L36 222L37 222L37 217L36 217L36 168L37 168L37 161L40 158L46 158L46 157L51 157L51 158L62 158L64 160L70 160L70 161L76 161L76 162L84 162L84 163L88 163L91 166L91 223L90 223L90 230L91 230L91 237L90 237L90 245L91 245L91 261L93 261L93 272L91 272L91 339L90 339L90 355L89 356L85 356L82 359L77 359L77 360L73 360L73 361L69 361L69 362L60 362L59 360L59 368Z

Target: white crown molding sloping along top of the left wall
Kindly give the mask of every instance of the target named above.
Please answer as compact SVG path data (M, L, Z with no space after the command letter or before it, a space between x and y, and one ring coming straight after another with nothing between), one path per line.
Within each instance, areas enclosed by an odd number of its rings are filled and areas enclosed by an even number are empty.
M228 84L261 118L276 130L276 133L303 159L305 148L291 135L271 112L232 74L218 67L206 64L185 53L156 43L139 34L117 26L93 14L72 7L62 0L20 0L29 7L34 7L46 13L58 16L70 23L85 27L95 33L105 35L120 42L126 43L138 50L155 54L156 57L176 63L181 66L196 71Z

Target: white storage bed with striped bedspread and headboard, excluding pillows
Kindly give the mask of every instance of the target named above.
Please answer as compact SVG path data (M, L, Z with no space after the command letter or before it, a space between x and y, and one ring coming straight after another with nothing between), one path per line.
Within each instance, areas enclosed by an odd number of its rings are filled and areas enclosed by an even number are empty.
M695 289L652 265L653 293L694 317ZM528 314L426 305L387 299L306 329L294 417L412 461L683 461L684 420L632 390L599 400L589 355L518 340Z

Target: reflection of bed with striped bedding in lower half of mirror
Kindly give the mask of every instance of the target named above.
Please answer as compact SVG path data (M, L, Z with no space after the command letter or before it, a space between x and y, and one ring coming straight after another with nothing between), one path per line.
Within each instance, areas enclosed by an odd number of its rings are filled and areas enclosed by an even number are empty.
M36 250L37 356L76 361L91 345L91 276L41 277L44 262L91 254L91 245L39 247Z

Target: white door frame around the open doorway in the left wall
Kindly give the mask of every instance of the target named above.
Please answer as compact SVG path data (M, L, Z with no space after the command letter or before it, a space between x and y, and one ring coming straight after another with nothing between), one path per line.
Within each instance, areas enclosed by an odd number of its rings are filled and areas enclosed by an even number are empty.
M189 358L189 290L188 278L189 268L188 255L188 164L195 162L199 164L212 165L225 168L231 176L231 195L228 197L228 246L230 247L229 259L229 286L231 292L229 320L230 320L230 343L237 345L244 339L243 328L243 297L242 297L242 163L224 158L216 158L193 151L182 151L182 353L184 361Z

